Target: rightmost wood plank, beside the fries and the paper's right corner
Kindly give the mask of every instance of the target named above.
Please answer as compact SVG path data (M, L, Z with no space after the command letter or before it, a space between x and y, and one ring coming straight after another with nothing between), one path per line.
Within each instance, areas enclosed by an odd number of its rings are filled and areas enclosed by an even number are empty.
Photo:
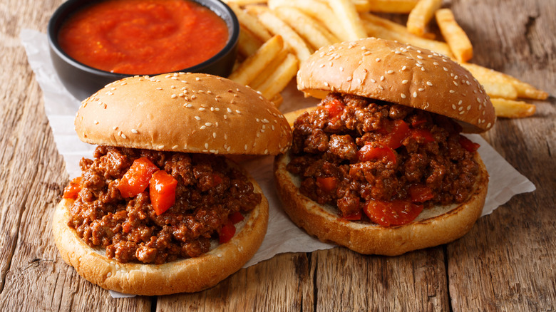
M556 93L550 1L453 1L475 43L473 62ZM481 25L478 27L478 25ZM556 306L555 98L532 118L498 120L485 137L537 190L520 194L448 245L453 311L549 311Z

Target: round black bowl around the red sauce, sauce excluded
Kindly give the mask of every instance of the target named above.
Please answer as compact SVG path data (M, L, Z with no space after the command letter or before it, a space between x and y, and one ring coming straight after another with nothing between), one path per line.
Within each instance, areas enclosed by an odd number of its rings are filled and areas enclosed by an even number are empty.
M216 76L226 77L232 72L237 53L237 38L240 35L240 24L230 7L219 0L190 0L215 12L223 19L228 27L228 41L224 48L215 56L190 68L183 68L182 72L210 73ZM58 43L58 31L69 15L83 9L94 2L91 0L68 0L63 3L52 15L48 22L48 44L52 63L63 85L68 91L78 98L84 100L91 94L103 88L108 83L128 76L155 75L160 73L110 73L80 63L64 52Z

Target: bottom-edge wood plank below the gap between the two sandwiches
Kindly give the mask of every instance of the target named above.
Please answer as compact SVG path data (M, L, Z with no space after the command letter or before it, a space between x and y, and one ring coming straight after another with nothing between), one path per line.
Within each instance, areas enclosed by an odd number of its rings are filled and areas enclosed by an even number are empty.
M241 269L199 293L158 298L163 311L312 311L312 272L306 254L279 254Z

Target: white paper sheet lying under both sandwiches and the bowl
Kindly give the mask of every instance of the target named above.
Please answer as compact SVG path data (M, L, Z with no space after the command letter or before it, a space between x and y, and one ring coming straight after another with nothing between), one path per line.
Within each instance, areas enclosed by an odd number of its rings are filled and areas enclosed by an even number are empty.
M68 93L56 75L51 63L46 35L31 29L23 29L20 39L27 53L29 65L43 90L46 117L51 125L58 152L66 162L66 170L70 177L77 177L81 175L78 167L79 160L81 157L92 158L95 148L93 145L81 142L73 127L73 120L80 102ZM284 103L281 110L284 113L317 103L314 99L303 98L302 93L295 89L294 83L284 90L282 97ZM490 175L483 216L508 202L513 195L535 190L535 185L506 162L493 147L488 145L488 142L483 140L483 137L480 135L467 136L473 142L480 144L478 152ZM289 220L280 208L281 203L274 188L272 161L272 157L260 157L242 163L259 182L269 200L267 235L257 254L244 267L252 266L259 261L270 259L272 256L284 252L311 252L336 246L325 244L307 235ZM110 291L110 294L113 297L127 296L113 291Z

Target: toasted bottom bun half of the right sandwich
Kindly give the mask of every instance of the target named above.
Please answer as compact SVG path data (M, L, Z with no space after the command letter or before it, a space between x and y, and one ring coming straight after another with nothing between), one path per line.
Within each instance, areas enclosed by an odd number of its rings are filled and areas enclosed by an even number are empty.
M318 204L303 195L299 192L301 180L286 170L288 154L276 157L274 175L284 210L307 233L361 254L397 256L447 244L469 232L483 212L488 187L488 173L478 153L475 160L480 172L467 202L424 209L413 222L393 227L348 221L339 217L336 207Z

